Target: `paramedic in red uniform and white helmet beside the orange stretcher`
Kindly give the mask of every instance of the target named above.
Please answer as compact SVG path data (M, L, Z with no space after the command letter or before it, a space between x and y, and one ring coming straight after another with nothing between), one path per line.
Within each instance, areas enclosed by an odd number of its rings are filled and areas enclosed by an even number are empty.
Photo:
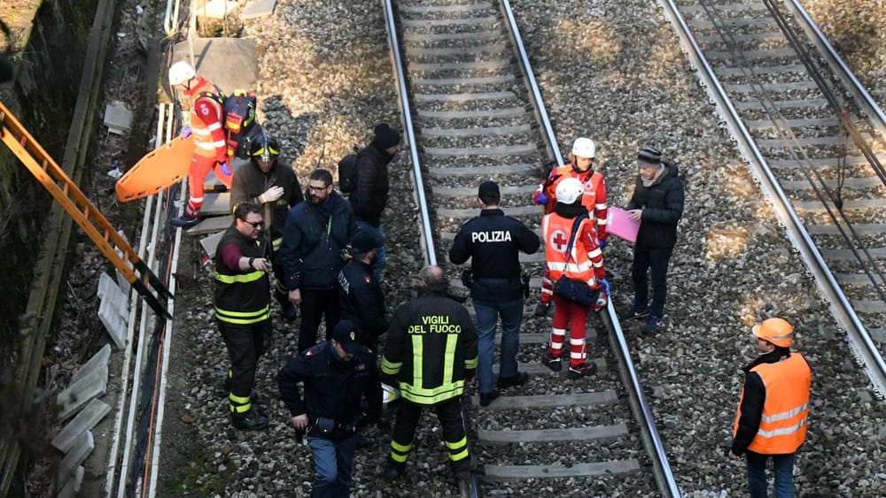
M169 67L169 85L190 99L190 126L182 129L183 136L194 136L194 155L188 172L188 205L183 216L172 218L173 226L190 227L200 221L203 207L203 184L206 175L215 176L230 188L233 174L228 164L228 146L222 121L221 91L211 82L198 76L194 68L184 62Z

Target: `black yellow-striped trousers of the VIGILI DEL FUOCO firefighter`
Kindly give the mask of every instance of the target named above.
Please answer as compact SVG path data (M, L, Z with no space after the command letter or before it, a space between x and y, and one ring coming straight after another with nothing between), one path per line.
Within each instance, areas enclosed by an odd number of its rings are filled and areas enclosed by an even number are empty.
M443 442L446 443L449 453L449 464L456 477L464 476L470 472L470 453L461 396L434 405L420 405L405 399L400 400L397 421L393 426L390 460L395 465L406 464L409 451L412 449L412 438L416 435L418 418L421 417L425 406L437 411L437 419L443 427Z

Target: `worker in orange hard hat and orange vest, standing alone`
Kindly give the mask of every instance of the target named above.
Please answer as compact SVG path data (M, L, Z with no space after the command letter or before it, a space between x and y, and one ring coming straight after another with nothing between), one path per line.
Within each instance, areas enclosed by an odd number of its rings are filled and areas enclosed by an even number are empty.
M767 318L753 327L763 355L744 367L742 401L735 417L729 456L748 463L751 498L766 498L766 461L775 468L776 498L794 496L794 456L806 439L812 372L803 355L792 353L794 327Z

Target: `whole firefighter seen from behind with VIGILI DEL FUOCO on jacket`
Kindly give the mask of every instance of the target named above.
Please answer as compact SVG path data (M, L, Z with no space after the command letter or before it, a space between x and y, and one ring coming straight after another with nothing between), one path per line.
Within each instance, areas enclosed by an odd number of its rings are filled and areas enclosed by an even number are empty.
M477 369L477 328L468 310L447 297L447 280L439 266L422 268L418 286L418 298L394 312L382 358L382 379L391 386L399 383L402 398L385 479L399 479L406 471L418 419L429 407L437 412L449 464L466 496L470 452L462 394L465 381Z

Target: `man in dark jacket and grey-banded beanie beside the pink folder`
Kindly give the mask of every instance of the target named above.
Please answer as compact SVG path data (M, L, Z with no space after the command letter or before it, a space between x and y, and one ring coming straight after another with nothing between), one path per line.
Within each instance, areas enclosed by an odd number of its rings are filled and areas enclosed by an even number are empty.
M647 147L637 157L640 173L627 204L628 216L640 220L640 232L633 246L633 306L623 320L647 318L642 332L655 332L664 319L667 297L667 265L677 243L677 224L683 216L683 180L677 165L662 161L661 150ZM649 307L649 279L652 276L652 306Z

